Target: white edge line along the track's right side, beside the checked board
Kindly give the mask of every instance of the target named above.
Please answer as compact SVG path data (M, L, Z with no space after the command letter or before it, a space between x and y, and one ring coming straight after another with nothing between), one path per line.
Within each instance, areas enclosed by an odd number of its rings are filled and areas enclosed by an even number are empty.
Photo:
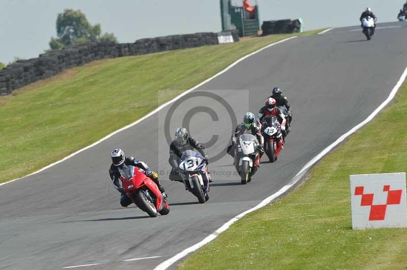
M191 252L196 251L198 248L208 244L209 242L211 242L212 240L214 240L219 233L225 231L226 229L228 229L230 227L231 224L235 223L236 221L238 221L239 219L241 219L242 217L244 217L246 214L251 213L257 209L260 209L264 206L266 206L267 204L269 204L273 199L278 198L281 194L283 194L285 191L287 191L288 189L290 189L291 187L293 187L298 181L300 181L300 179L302 178L302 176L305 174L306 170L308 170L308 168L310 166L312 166L313 164L315 164L315 162L317 162L319 159L321 159L324 155L326 155L330 150L332 150L332 148L334 148L335 146L337 146L339 143L341 143L343 140L345 140L348 136L350 136L352 133L354 133L355 131L357 131L358 129L360 129L362 126L364 126L365 124L367 124L368 122L370 122L387 104L389 104L389 102L394 98L394 96L396 95L398 89L401 87L401 85L403 84L405 78L407 77L407 67L405 68L403 74L401 75L400 79L398 80L397 84L394 86L393 90L390 92L389 96L386 98L386 100L379 106L377 107L363 122L361 122L360 124L356 125L354 128L352 128L351 130L347 131L345 134L343 134L341 137L339 137L334 143L332 143L331 145L329 145L327 148L325 148L321 153L319 153L318 155L316 155L314 158L312 158L302 169L300 172L298 172L298 174L293 178L293 180L288 184L283 186L280 190L278 190L276 193L272 194L271 196L267 197L266 199L264 199L263 201L261 201L260 204L258 204L257 206L237 215L236 217L230 219L228 222L226 222L225 224L223 224L220 228L218 228L217 230L215 230L214 232L212 232L208 237L206 237L205 239L203 239L202 241L200 241L199 243L181 251L180 253L176 254L175 256L163 261L162 263L160 263L159 265L157 265L154 270L165 270L167 269L169 266L171 266L173 263L175 263L176 261L178 261L179 259L185 257L186 255L188 255Z

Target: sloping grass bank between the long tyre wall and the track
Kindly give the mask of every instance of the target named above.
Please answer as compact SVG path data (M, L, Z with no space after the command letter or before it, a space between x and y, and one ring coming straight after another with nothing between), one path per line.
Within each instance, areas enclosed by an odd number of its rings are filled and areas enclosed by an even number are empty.
M0 182L92 144L242 56L290 36L95 61L0 97ZM164 89L174 90L159 96Z

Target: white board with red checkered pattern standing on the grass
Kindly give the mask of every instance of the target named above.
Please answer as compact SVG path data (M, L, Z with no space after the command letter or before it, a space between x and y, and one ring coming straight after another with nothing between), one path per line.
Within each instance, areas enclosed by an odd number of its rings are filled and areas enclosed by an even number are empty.
M407 227L405 173L351 175L352 228Z

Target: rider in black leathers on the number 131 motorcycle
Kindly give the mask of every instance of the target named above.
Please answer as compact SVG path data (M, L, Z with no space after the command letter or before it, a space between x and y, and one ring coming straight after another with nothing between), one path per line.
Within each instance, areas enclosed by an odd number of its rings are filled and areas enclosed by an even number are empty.
M169 174L169 180L183 182L182 176L180 176L180 171L178 165L180 163L180 158L182 153L187 150L196 150L203 156L203 160L208 164L209 157L208 153L198 141L194 138L188 136L188 130L185 127L179 127L175 131L175 140L172 141L169 146L169 158L168 162L171 165L171 173ZM212 178L208 173L209 182L212 182Z

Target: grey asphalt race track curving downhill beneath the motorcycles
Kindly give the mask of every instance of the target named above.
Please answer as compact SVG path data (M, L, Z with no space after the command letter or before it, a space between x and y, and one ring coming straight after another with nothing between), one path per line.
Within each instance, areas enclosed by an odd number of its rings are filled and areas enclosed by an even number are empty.
M152 269L201 241L290 182L386 99L407 63L406 33L405 24L389 23L379 25L370 42L360 27L299 37L265 49L201 86L218 95L216 100L190 97L173 112L169 133L172 137L184 116L190 117L192 136L199 141L219 136L208 149L211 157L227 146L234 128L230 119L240 123L247 110L257 115L274 85L288 96L294 114L293 132L278 160L270 164L264 156L246 186L228 176L235 172L230 156L210 163L215 182L206 204L197 204L181 183L165 181L169 165L163 123L170 106L48 170L1 186L0 269L84 264L97 265L78 269ZM221 99L235 115L229 115ZM211 110L218 118L212 120ZM164 171L168 216L149 218L135 207L121 208L107 174L115 147ZM155 258L124 261L145 257Z

